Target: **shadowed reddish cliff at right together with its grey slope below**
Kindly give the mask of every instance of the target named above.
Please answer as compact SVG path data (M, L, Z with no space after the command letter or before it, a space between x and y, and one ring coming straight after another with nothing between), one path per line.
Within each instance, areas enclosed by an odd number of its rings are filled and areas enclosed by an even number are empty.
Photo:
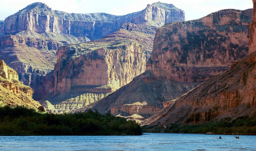
M163 108L163 103L166 105L165 102L223 73L232 62L248 54L251 12L221 10L198 20L160 27L146 72L87 108L101 113L111 110L118 115L126 111L125 104L147 102L152 106L152 115L153 106Z

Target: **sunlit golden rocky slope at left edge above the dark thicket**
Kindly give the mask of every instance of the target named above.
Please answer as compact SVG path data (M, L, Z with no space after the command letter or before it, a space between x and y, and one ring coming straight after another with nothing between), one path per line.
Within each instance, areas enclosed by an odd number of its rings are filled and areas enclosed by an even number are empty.
M33 89L23 85L17 72L8 67L4 60L0 60L0 89L0 106L22 105L35 109L41 106L32 99Z

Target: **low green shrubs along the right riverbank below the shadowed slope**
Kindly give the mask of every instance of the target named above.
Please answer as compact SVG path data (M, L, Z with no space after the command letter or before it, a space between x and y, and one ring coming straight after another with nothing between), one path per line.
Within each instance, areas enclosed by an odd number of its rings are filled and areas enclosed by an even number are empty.
M144 126L144 132L165 132L165 133L200 133L213 132L214 134L231 135L256 135L256 115L253 117L242 116L235 120L225 118L220 121L210 121L202 125L177 125L166 126Z

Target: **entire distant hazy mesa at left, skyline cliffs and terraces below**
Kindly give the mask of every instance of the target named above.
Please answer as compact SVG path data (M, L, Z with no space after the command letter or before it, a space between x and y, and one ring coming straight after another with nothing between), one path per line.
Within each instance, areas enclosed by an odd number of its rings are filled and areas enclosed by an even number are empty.
M62 46L111 36L119 29L154 35L157 27L184 20L184 11L160 2L123 16L65 13L44 3L33 3L0 22L0 58L18 72L21 82L34 89L33 98L41 100L54 91L52 70L57 61L56 51ZM137 41L142 40L145 39ZM150 54L152 44L147 49Z

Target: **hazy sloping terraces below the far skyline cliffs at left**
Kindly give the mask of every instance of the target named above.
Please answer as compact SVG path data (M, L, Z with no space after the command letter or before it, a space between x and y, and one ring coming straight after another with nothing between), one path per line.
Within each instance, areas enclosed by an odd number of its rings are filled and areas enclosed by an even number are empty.
M29 35L31 37L28 37ZM53 69L56 63L56 50L70 42L78 43L80 40L64 35L48 35L46 38L44 34L37 34L33 31L6 35L0 38L0 58L18 72L21 82L35 89L33 97L39 99L38 94L42 93L42 90L38 88L43 82L40 81L43 78L41 76L45 76Z

